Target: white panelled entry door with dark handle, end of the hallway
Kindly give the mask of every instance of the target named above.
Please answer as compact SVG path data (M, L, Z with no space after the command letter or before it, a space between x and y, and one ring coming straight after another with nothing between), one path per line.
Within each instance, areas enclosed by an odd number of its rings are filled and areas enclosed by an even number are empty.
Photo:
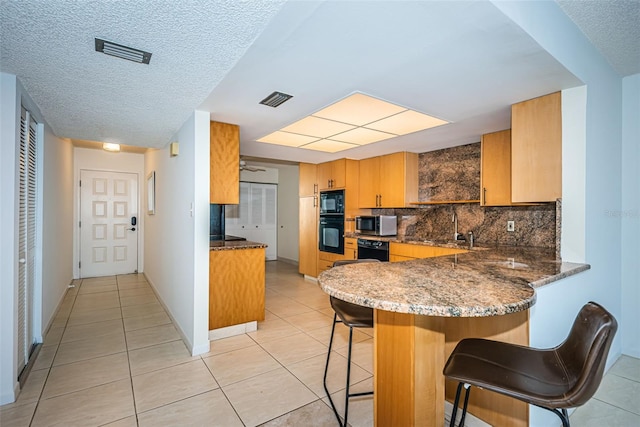
M80 277L137 272L138 175L81 170L80 211Z

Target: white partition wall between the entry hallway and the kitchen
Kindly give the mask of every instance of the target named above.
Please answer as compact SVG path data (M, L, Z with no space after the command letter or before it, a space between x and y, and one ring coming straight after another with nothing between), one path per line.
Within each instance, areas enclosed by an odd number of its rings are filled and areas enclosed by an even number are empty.
M179 156L169 157L168 147L144 156L145 176L156 173L156 213L144 218L145 275L195 355L209 351L209 114L195 111L172 141Z

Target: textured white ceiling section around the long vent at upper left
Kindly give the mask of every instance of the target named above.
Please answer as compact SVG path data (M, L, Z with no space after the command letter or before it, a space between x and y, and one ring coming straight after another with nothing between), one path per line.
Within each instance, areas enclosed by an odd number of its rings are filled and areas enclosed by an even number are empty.
M3 0L3 72L62 137L161 147L281 7L274 0ZM149 65L95 51L104 38Z

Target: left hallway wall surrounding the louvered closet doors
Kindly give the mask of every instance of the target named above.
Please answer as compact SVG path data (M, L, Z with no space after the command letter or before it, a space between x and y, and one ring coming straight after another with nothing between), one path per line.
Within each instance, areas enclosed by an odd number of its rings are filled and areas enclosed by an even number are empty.
M20 105L39 125L38 221L34 333L42 338L72 279L72 151L55 137L17 78L0 73L0 404L13 402L17 372L18 141Z

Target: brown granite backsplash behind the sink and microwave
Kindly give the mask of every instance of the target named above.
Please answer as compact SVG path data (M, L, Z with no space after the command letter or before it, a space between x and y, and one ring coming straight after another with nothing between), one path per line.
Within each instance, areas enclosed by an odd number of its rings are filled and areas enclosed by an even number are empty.
M478 200L480 143L422 153L418 157L418 200ZM556 214L557 212L557 214ZM426 205L414 209L373 209L397 215L398 237L406 240L452 240L455 213L458 232L477 244L555 247L559 250L560 202L536 206L483 207L476 203ZM507 221L515 230L507 231Z

